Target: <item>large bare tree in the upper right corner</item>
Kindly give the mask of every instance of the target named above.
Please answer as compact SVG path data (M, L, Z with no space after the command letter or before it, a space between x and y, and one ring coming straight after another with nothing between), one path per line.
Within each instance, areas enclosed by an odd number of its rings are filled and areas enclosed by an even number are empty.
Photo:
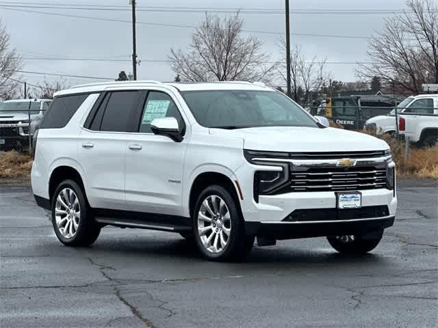
M438 83L438 6L434 0L408 0L407 6L409 12L385 19L369 42L373 64L358 72L399 92L419 93L422 83Z

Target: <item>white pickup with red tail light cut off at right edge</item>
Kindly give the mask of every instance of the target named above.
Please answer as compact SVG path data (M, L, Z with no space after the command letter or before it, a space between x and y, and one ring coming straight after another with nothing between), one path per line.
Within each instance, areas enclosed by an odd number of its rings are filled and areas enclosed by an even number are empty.
M438 94L422 95L416 102L419 102L417 110L399 114L400 134L420 146L435 146L438 144Z

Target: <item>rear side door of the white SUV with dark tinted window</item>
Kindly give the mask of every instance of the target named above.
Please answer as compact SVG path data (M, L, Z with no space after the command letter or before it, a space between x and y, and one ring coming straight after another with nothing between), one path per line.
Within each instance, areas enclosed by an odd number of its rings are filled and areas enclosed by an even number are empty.
M107 92L98 100L79 135L79 163L93 208L125 210L125 149L129 117L140 92Z

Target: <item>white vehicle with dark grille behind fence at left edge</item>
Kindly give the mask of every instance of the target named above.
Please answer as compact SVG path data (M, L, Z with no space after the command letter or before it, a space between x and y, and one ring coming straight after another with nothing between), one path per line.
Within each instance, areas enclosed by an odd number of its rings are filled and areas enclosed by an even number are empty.
M38 129L49 99L6 100L0 104L0 150L27 150ZM29 138L30 134L30 138Z

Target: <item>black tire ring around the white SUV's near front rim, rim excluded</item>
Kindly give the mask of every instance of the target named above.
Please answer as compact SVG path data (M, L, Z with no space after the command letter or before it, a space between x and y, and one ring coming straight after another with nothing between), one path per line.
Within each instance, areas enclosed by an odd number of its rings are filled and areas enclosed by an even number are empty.
M222 198L225 204L227 204L231 217L231 233L229 236L229 241L224 249L222 249L222 251L219 253L211 253L205 249L198 234L198 212L201 208L202 202L211 195L217 195ZM235 204L235 200L230 195L229 191L227 191L227 189L219 185L212 185L204 189L204 191L198 196L198 200L196 201L196 205L194 206L194 211L192 213L192 231L196 246L201 251L203 256L209 260L229 260L239 254L245 237L244 220L240 215L237 205Z

